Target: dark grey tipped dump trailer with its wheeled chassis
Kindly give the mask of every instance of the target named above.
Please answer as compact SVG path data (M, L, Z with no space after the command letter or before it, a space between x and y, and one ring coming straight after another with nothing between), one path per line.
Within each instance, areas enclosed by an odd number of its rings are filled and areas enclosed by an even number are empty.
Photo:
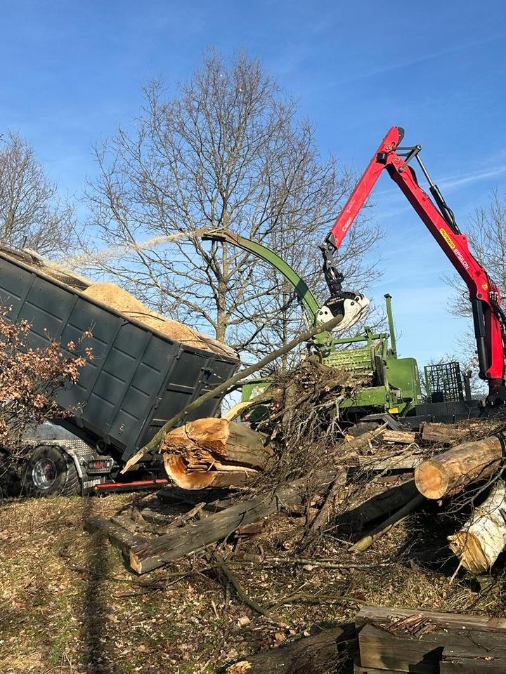
M194 348L92 300L32 264L18 251L0 250L0 304L8 318L30 323L27 344L62 348L73 341L93 357L79 382L56 395L71 416L32 430L24 482L34 494L86 494L138 489L164 480L162 463L148 456L131 473L119 471L169 418L225 381L238 368L233 350L209 338ZM91 336L84 337L84 333ZM207 339L207 338L205 338ZM213 416L214 398L188 416Z

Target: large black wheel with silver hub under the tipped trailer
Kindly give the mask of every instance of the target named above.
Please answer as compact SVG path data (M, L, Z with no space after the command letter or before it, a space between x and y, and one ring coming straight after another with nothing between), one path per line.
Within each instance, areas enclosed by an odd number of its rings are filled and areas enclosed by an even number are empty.
M54 444L34 447L22 482L23 491L30 496L76 496L81 491L72 457Z

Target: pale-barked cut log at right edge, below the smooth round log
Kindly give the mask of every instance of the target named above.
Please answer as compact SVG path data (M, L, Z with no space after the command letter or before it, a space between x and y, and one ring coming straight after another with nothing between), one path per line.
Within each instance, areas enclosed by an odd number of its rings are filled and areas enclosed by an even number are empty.
M506 547L506 488L502 480L448 541L467 571L481 574L491 568Z

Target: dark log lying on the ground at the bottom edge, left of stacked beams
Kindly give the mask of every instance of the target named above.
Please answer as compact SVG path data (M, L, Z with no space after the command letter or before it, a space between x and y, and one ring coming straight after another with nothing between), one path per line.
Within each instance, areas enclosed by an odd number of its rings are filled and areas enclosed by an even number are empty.
M222 674L320 674L334 671L342 649L353 640L351 628L331 628L285 646L271 648L226 665ZM387 674L387 673L385 673Z

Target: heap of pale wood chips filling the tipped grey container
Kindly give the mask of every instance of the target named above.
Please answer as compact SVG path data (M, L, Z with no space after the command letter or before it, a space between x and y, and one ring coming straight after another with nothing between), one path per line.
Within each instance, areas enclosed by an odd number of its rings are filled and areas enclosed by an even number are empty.
M117 286L115 283L93 283L82 294L183 344L205 351L227 352L228 355L231 355L231 350L225 345L221 345L221 343L213 338L202 335L178 321L150 310L140 300L131 295L129 291Z

